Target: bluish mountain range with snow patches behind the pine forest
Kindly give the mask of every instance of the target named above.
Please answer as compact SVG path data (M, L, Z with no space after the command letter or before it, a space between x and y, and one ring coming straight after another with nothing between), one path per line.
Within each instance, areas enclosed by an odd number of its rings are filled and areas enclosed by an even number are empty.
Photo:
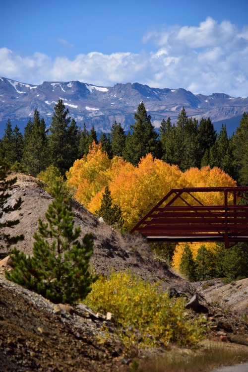
M59 99L62 99L69 109L69 116L76 120L78 126L86 123L90 129L94 125L97 132L110 131L115 120L125 130L129 129L141 101L155 127L168 117L176 123L184 106L188 117L197 120L210 117L216 124L216 130L224 123L231 134L239 125L243 113L248 111L248 97L235 98L224 93L205 96L183 88L151 88L139 83L101 87L79 81L45 81L32 85L0 77L0 135L8 119L12 125L17 124L23 130L36 108L49 125Z

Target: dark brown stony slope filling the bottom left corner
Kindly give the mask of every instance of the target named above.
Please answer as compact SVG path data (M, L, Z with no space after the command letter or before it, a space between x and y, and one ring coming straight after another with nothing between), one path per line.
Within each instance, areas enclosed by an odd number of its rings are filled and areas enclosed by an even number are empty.
M0 278L0 371L120 371L112 323L80 305L70 312Z

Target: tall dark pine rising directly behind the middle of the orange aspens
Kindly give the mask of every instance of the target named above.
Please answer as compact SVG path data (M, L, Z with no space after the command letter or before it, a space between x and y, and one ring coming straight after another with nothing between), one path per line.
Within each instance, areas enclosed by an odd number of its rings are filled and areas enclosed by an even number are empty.
M139 104L137 113L134 113L134 119L136 122L130 125L133 132L126 142L128 148L124 150L124 158L133 165L138 165L140 159L148 153L156 156L158 135L143 102Z

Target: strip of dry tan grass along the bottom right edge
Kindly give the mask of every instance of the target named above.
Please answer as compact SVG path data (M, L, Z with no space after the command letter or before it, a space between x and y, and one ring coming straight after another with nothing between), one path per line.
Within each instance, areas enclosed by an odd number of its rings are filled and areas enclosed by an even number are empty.
M248 360L248 348L236 344L204 341L195 351L171 350L148 361L134 361L129 372L209 372Z

